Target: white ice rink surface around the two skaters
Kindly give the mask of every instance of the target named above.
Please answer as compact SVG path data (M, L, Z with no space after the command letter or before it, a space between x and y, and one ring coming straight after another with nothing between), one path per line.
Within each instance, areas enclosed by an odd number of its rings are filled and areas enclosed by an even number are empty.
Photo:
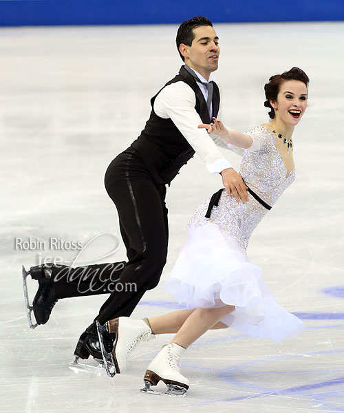
M78 262L122 260L109 234L117 214L103 185L109 162L138 136L149 98L178 72L175 25L2 28L1 377L2 412L344 412L343 114L344 23L215 25L224 121L246 131L268 120L264 83L299 66L309 108L294 133L297 180L259 224L248 255L277 301L305 320L279 344L208 332L182 360L184 398L142 394L142 377L171 336L133 353L127 374L68 368L80 333L105 296L64 299L50 321L28 328L21 265L72 260L63 242L92 242ZM234 165L239 158L228 154ZM168 191L170 243L162 281L186 240L186 222L221 185L195 157ZM16 239L37 242L21 249ZM50 247L56 238L56 248ZM39 245L38 242L41 242ZM60 242L58 244L58 242ZM36 282L28 279L33 297ZM178 308L162 283L133 317ZM159 386L158 386L159 387ZM162 386L160 387L163 390Z

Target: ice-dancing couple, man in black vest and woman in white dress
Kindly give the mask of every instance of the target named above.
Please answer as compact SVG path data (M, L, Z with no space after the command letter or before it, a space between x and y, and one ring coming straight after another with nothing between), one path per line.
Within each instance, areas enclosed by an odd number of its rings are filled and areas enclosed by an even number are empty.
M118 372L121 365L125 370L127 354L138 341L177 333L147 369L147 386L163 379L184 392L189 381L179 371L179 359L206 330L233 326L252 337L279 340L303 327L270 295L260 269L248 262L246 247L252 230L294 179L291 136L305 111L308 78L297 68L273 76L266 85L272 121L248 134L228 132L217 120L211 123L213 117L222 118L220 92L211 77L219 59L211 22L197 17L182 23L177 45L186 65L152 98L151 116L142 134L111 162L105 176L105 186L118 209L128 262L32 267L30 274L39 281L39 290L33 306L28 303L28 317L33 310L38 324L45 324L58 299L110 293L80 336L76 357L102 357L97 321L100 326L107 323L105 352L114 348ZM283 89L286 85L288 90ZM303 87L302 93L298 87ZM244 148L241 175L216 147L228 149L225 140L230 149ZM158 284L166 262L166 184L195 152L208 171L221 173L225 190L205 201L191 218L190 240L166 284L188 308L132 321L129 315L144 292ZM89 275L101 288L85 293ZM136 282L138 288L114 291L114 279L122 284Z

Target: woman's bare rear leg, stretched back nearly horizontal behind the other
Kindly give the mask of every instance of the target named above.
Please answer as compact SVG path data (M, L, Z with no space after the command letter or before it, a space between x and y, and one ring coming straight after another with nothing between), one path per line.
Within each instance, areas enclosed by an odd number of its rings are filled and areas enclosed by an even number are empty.
M188 319L194 311L195 308L191 308L190 310L177 310L172 313L160 315L159 317L150 318L149 324L151 324L151 330L155 335L178 332L186 319ZM219 321L211 327L211 330L217 330L219 328L228 328L228 326Z

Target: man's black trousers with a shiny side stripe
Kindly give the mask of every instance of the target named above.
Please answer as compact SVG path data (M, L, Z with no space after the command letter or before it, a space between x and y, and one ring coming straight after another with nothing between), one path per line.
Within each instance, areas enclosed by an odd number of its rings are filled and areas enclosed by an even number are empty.
M158 285L166 263L169 230L166 187L154 182L134 149L120 153L105 173L116 205L127 262L54 268L58 298L111 293L96 319L129 316L147 290Z

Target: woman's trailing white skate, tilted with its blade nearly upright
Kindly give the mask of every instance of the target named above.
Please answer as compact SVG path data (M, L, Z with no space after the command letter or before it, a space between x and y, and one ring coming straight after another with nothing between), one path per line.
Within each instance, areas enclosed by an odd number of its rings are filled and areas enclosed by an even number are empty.
M105 363L105 369L110 377L116 373L123 373L127 370L127 357L139 341L148 341L155 338L151 332L148 319L134 320L129 317L118 317L107 321L107 332L116 333L114 348L112 349L111 361L114 368L109 368ZM100 336L101 334L98 335ZM103 340L103 337L102 337ZM103 350L102 350L103 351ZM104 356L109 354L103 354ZM106 359L106 357L105 357ZM115 371L114 371L115 370Z

